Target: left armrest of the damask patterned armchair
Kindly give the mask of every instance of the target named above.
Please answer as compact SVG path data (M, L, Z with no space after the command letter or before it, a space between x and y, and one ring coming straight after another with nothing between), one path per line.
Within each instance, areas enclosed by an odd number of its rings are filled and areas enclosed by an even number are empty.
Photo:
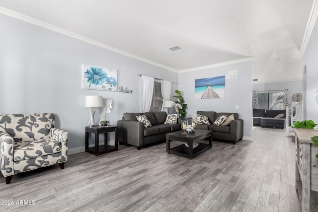
M13 138L5 132L0 132L0 170L4 177L14 175Z

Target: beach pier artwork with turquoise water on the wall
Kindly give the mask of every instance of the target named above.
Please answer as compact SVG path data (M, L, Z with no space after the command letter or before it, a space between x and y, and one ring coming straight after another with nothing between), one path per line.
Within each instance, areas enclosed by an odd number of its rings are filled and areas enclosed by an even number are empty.
M195 99L225 98L225 76L195 79Z

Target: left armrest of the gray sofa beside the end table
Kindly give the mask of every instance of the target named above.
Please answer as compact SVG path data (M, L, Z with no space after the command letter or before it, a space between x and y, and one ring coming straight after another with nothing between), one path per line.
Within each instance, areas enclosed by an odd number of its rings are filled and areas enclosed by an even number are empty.
M144 143L144 123L138 121L118 120L118 141L137 147Z

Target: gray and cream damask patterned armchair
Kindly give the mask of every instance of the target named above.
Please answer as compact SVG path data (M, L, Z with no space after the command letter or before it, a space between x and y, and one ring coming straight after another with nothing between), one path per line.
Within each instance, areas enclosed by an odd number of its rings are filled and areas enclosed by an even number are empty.
M68 159L68 132L54 128L53 113L0 115L0 170L12 176Z

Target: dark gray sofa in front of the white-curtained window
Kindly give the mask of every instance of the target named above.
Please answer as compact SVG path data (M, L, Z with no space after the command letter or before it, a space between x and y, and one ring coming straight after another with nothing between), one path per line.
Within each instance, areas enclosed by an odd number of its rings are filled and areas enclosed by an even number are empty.
M137 121L136 116L144 114L152 126L145 128L143 122ZM165 141L165 134L181 130L180 120L177 124L164 124L166 112L124 113L122 120L117 121L118 141L130 145L142 146Z

